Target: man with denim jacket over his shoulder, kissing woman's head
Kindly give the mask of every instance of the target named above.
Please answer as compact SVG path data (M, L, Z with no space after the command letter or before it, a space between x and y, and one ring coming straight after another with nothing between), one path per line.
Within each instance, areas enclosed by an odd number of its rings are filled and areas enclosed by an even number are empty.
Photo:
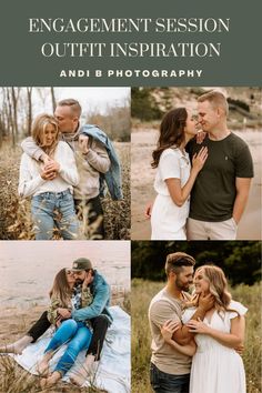
M122 199L121 173L113 145L103 131L94 125L80 127L81 105L77 100L67 99L58 103L54 117L58 120L61 139L74 152L80 181L73 189L74 205L79 216L87 216L84 228L87 239L103 239L103 210L100 196L104 196L103 179L113 200ZM50 179L57 175L57 165L39 148L31 137L22 142L23 151L44 163L50 170Z

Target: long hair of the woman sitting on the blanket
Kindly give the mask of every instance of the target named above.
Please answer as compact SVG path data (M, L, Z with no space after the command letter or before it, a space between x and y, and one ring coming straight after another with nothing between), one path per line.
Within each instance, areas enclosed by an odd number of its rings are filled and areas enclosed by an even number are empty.
M58 299L61 302L61 305L66 309L68 308L72 295L72 290L69 286L67 274L67 269L61 269L57 273L53 280L53 285L49 292L50 298Z

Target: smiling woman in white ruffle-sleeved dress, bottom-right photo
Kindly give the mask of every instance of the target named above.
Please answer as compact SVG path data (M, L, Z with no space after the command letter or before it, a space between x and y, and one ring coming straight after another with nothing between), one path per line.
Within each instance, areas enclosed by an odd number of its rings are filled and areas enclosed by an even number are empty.
M182 321L190 332L195 333L189 345L179 345L170 339L170 332L178 329L178 323L172 321L168 321L162 329L164 340L178 351L193 355L190 393L245 393L244 366L235 349L244 341L244 314L248 309L231 299L225 275L218 266L199 268L194 285L198 295L213 295L214 306L205 313L203 321L190 320L198 300L195 306L184 311Z

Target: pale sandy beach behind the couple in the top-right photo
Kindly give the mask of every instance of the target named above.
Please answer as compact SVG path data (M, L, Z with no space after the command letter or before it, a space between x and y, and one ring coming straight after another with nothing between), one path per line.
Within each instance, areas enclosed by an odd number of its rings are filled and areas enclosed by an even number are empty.
M262 132L248 130L235 132L246 141L254 161L254 179L245 212L238 230L238 240L260 240L261 236L261 168L262 168ZM150 167L152 151L158 139L153 129L137 129L132 132L131 141L131 211L132 240L150 239L150 221L144 218L144 208L154 199L154 173Z

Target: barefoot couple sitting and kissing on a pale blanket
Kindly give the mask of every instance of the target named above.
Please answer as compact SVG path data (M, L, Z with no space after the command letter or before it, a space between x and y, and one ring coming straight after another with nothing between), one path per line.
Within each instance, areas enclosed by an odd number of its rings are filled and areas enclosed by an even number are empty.
M100 360L107 330L112 322L108 310L110 288L102 275L93 270L91 262L80 258L72 269L62 269L54 278L50 291L51 304L27 335L17 342L0 347L1 353L21 353L29 343L36 342L50 325L56 333L38 362L37 370L41 376L41 386L56 384L74 364L78 354L87 350L85 362L71 382L82 385L92 364ZM68 343L54 371L50 373L49 362L56 351Z

